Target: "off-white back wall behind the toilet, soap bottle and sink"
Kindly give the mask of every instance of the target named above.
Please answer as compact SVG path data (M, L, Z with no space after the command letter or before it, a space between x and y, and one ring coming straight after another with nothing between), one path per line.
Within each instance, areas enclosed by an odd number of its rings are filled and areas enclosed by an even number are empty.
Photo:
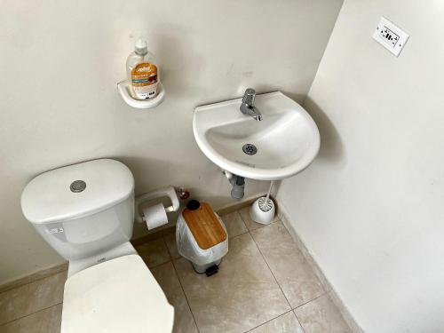
M303 100L341 4L0 0L0 283L61 261L20 212L23 187L45 170L113 157L131 168L137 193L171 184L215 208L231 202L194 143L194 107L249 86ZM116 91L138 30L167 90L150 111ZM266 187L248 181L246 195Z

